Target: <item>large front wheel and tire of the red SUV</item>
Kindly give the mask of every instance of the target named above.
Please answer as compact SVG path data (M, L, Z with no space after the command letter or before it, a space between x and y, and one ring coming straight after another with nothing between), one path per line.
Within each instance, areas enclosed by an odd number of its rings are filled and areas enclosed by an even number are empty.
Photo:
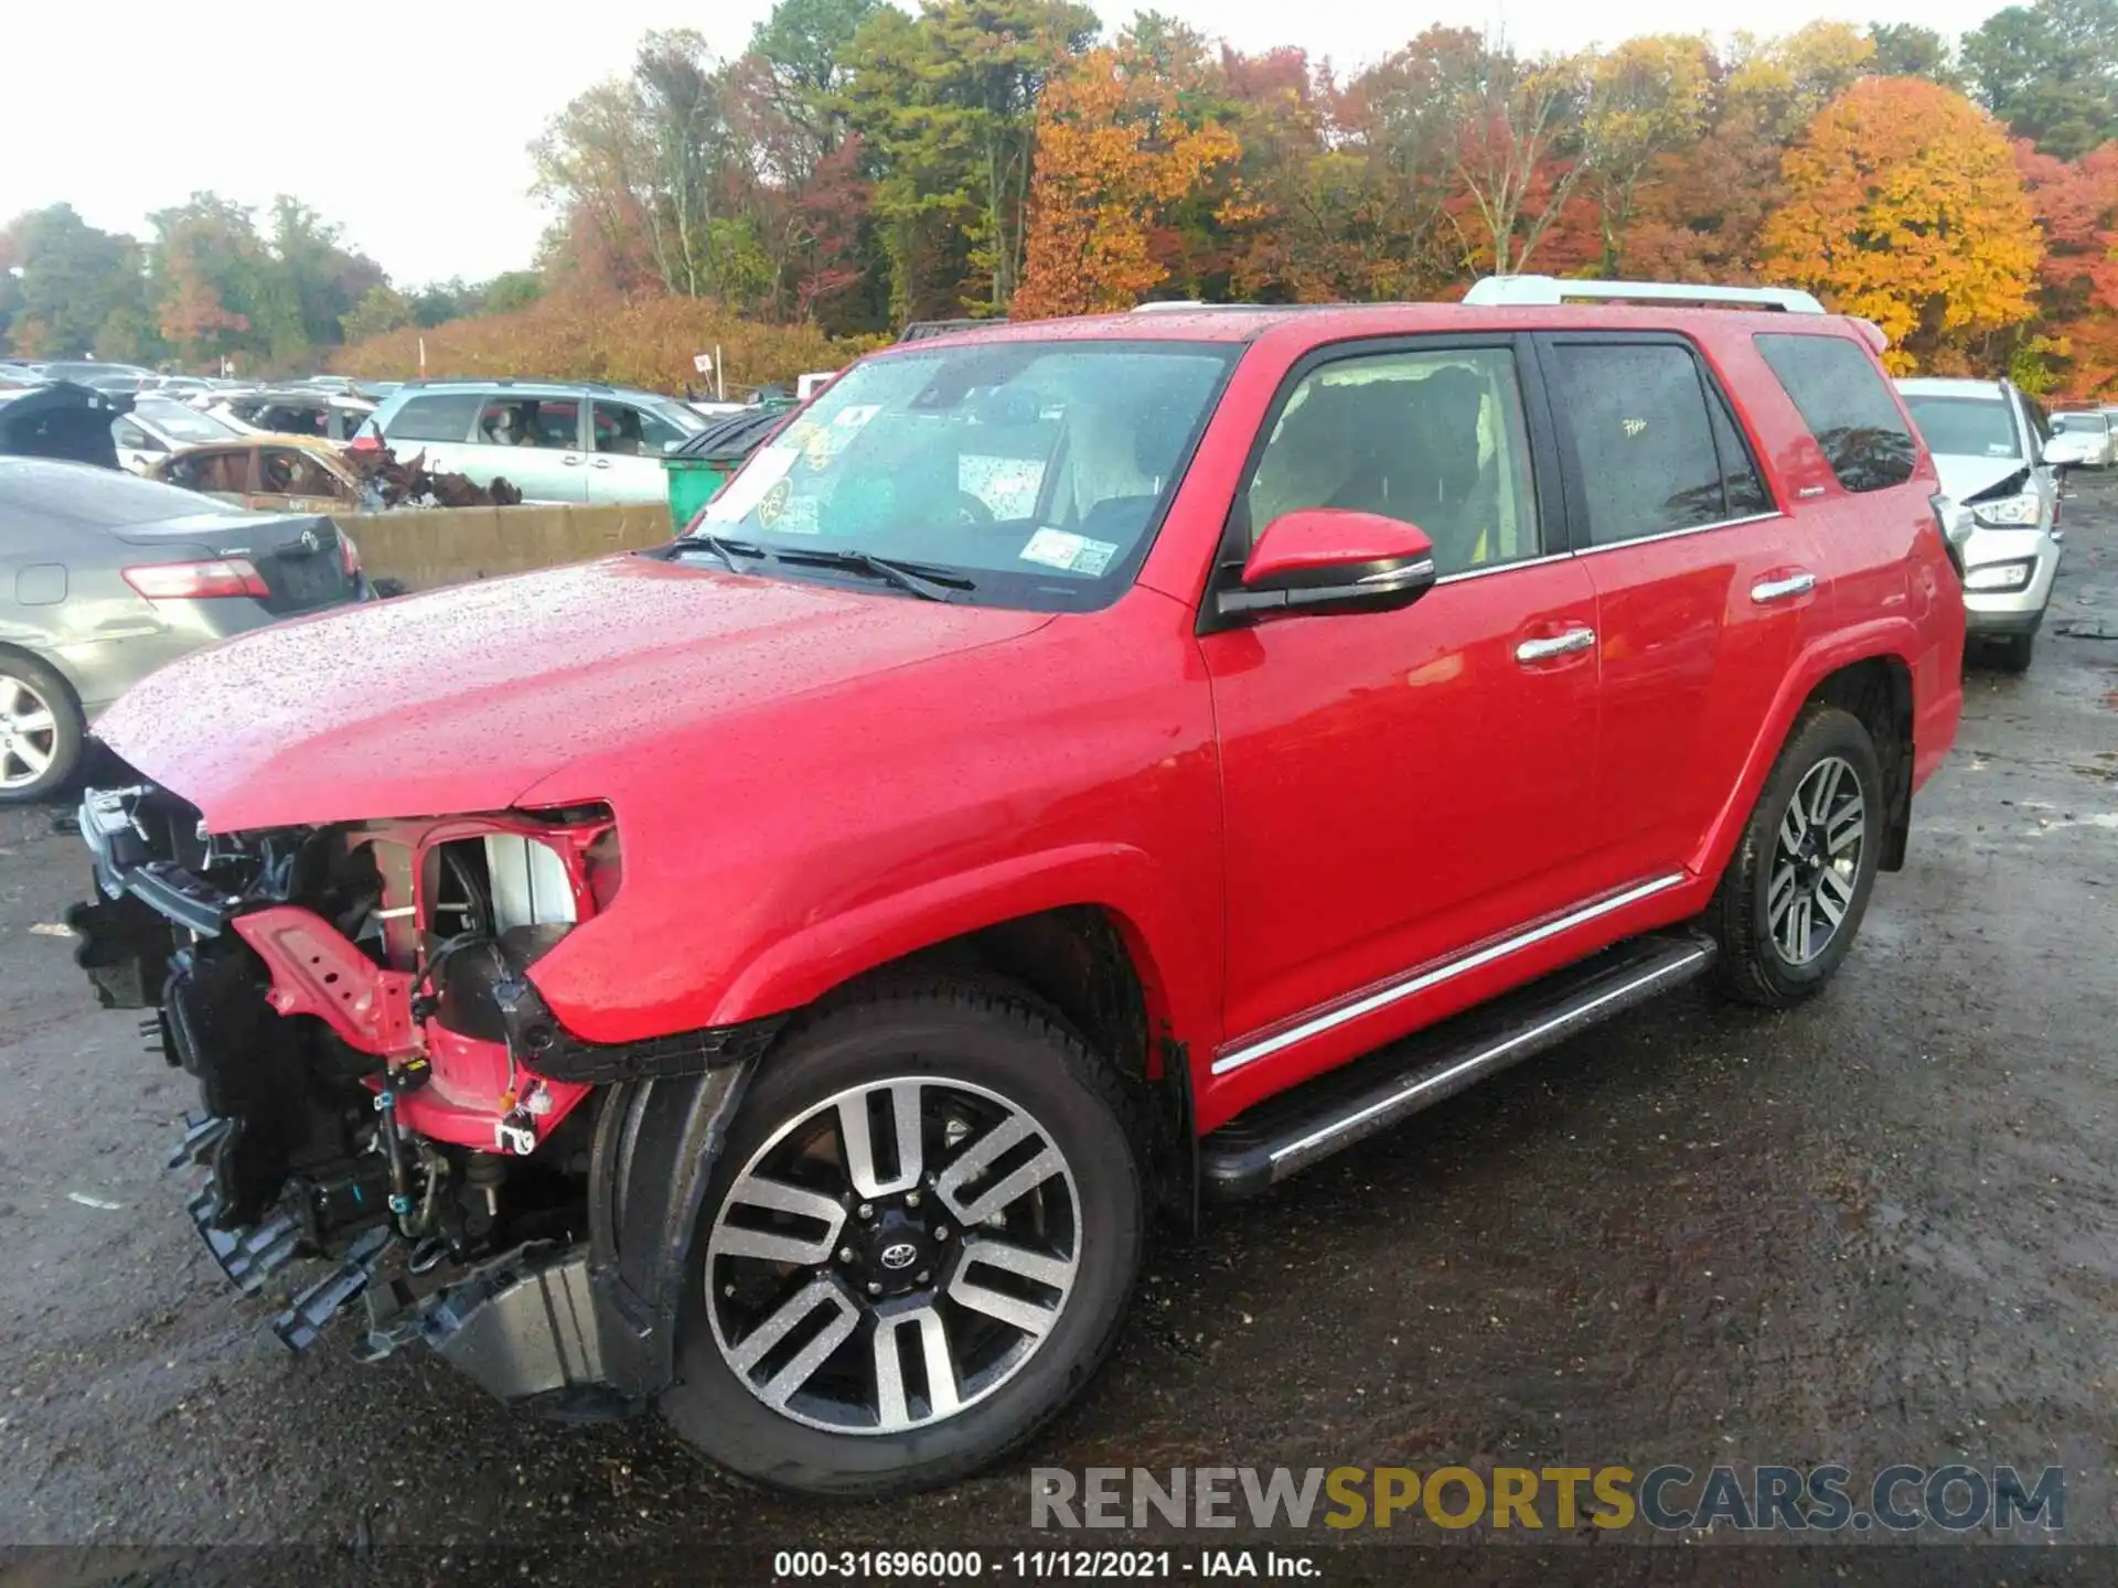
M669 1425L777 1488L998 1461L1116 1340L1144 1245L1125 1084L1036 999L930 982L765 1059L693 1232Z

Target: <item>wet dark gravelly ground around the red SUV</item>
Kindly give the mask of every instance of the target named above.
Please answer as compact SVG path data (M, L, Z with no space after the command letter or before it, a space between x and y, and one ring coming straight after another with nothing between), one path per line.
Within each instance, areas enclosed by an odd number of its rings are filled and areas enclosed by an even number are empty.
M421 1353L286 1355L161 1173L189 1082L91 1006L55 927L78 841L0 815L0 1571L714 1582L790 1546L995 1554L1061 1541L1027 1531L1031 1465L2059 1463L2065 1539L2118 1544L2118 479L2067 515L2038 663L1970 671L1910 864L1826 997L1686 991L1211 1215L1078 1410L909 1501L767 1495L652 1421L536 1423ZM1705 1558L1279 1544L1324 1580ZM1716 1546L1707 1575L1883 1556L1919 1582L2118 1575L2118 1552L1997 1546Z

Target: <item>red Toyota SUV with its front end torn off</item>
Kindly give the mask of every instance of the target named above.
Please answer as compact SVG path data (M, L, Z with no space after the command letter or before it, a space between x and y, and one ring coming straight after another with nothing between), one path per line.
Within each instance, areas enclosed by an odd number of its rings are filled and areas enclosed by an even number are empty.
M1578 290L909 343L669 546L136 688L74 925L203 1084L222 1266L330 1260L297 1347L364 1294L364 1355L934 1484L1156 1211L1815 993L1955 735L1949 504L1872 328Z

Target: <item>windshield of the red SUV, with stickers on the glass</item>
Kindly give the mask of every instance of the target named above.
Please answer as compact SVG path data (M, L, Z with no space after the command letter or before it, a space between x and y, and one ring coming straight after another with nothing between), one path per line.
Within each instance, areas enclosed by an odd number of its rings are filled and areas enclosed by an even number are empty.
M1146 555L1239 351L989 341L873 358L758 449L697 531L945 567L993 606L1101 606Z

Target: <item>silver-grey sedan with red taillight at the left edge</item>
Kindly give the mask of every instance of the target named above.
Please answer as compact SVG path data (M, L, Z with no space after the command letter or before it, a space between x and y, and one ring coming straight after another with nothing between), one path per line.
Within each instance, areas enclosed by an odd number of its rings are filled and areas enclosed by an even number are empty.
M0 805L61 788L95 716L163 663L364 595L328 517L0 457Z

